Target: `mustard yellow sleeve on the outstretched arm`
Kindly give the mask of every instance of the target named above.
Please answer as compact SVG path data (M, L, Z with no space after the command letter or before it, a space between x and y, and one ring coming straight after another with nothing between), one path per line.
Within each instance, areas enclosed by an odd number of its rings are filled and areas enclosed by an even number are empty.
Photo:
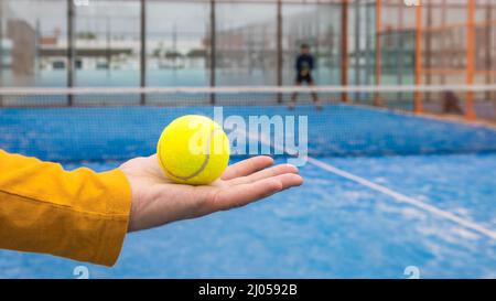
M112 266L128 228L131 189L119 171L65 171L0 150L0 248Z

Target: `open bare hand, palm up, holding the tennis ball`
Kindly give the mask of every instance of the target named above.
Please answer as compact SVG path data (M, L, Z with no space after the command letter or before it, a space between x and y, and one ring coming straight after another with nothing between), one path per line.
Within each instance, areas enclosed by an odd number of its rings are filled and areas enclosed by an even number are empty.
M132 190L129 232L244 206L303 183L295 166L272 164L255 157L229 165L211 185L191 186L172 183L157 155L129 160L119 168Z

